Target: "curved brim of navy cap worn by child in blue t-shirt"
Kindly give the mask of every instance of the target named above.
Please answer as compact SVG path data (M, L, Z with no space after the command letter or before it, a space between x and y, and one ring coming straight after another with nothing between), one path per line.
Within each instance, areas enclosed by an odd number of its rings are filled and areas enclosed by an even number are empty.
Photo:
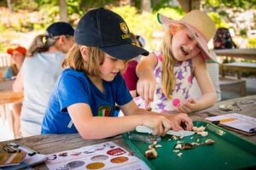
M99 47L101 48L101 47ZM125 43L118 46L110 46L101 48L105 53L113 56L116 59L129 60L137 57L138 55L148 55L148 51L137 47L131 43Z

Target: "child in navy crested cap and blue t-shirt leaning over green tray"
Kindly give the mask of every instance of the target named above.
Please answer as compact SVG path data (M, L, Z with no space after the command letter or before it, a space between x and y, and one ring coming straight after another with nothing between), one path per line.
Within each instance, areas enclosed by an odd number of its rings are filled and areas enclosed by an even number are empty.
M102 139L134 130L137 125L164 134L170 128L191 129L185 114L163 116L138 109L119 71L123 60L148 52L131 43L125 21L112 11L96 8L85 14L75 31L75 45L67 54L44 116L42 133L78 133ZM127 116L114 117L117 103Z

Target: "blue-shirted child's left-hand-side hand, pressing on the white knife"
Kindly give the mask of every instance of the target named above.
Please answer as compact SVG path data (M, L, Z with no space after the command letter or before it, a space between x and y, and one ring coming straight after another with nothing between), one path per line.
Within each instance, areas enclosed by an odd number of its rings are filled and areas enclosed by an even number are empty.
M165 136L174 124L166 116L155 114L143 116L143 126L154 129L153 135Z

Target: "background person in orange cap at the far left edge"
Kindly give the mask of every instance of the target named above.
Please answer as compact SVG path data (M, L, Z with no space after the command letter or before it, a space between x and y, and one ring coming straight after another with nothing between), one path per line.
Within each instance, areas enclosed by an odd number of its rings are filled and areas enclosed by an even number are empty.
M8 48L7 53L10 54L11 65L6 69L4 79L13 80L20 71L20 67L26 56L26 48L18 46L16 48ZM20 111L22 107L22 101L16 101L9 105L10 111L14 116L14 133L15 138L20 137Z

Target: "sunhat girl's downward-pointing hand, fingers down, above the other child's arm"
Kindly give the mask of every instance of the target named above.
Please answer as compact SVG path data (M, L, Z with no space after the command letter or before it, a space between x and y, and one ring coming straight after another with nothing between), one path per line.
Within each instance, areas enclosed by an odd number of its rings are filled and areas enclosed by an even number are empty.
M148 74L145 74L138 79L137 94L145 100L145 105L149 105L149 103L153 101L155 87L156 81L154 74L148 72Z

